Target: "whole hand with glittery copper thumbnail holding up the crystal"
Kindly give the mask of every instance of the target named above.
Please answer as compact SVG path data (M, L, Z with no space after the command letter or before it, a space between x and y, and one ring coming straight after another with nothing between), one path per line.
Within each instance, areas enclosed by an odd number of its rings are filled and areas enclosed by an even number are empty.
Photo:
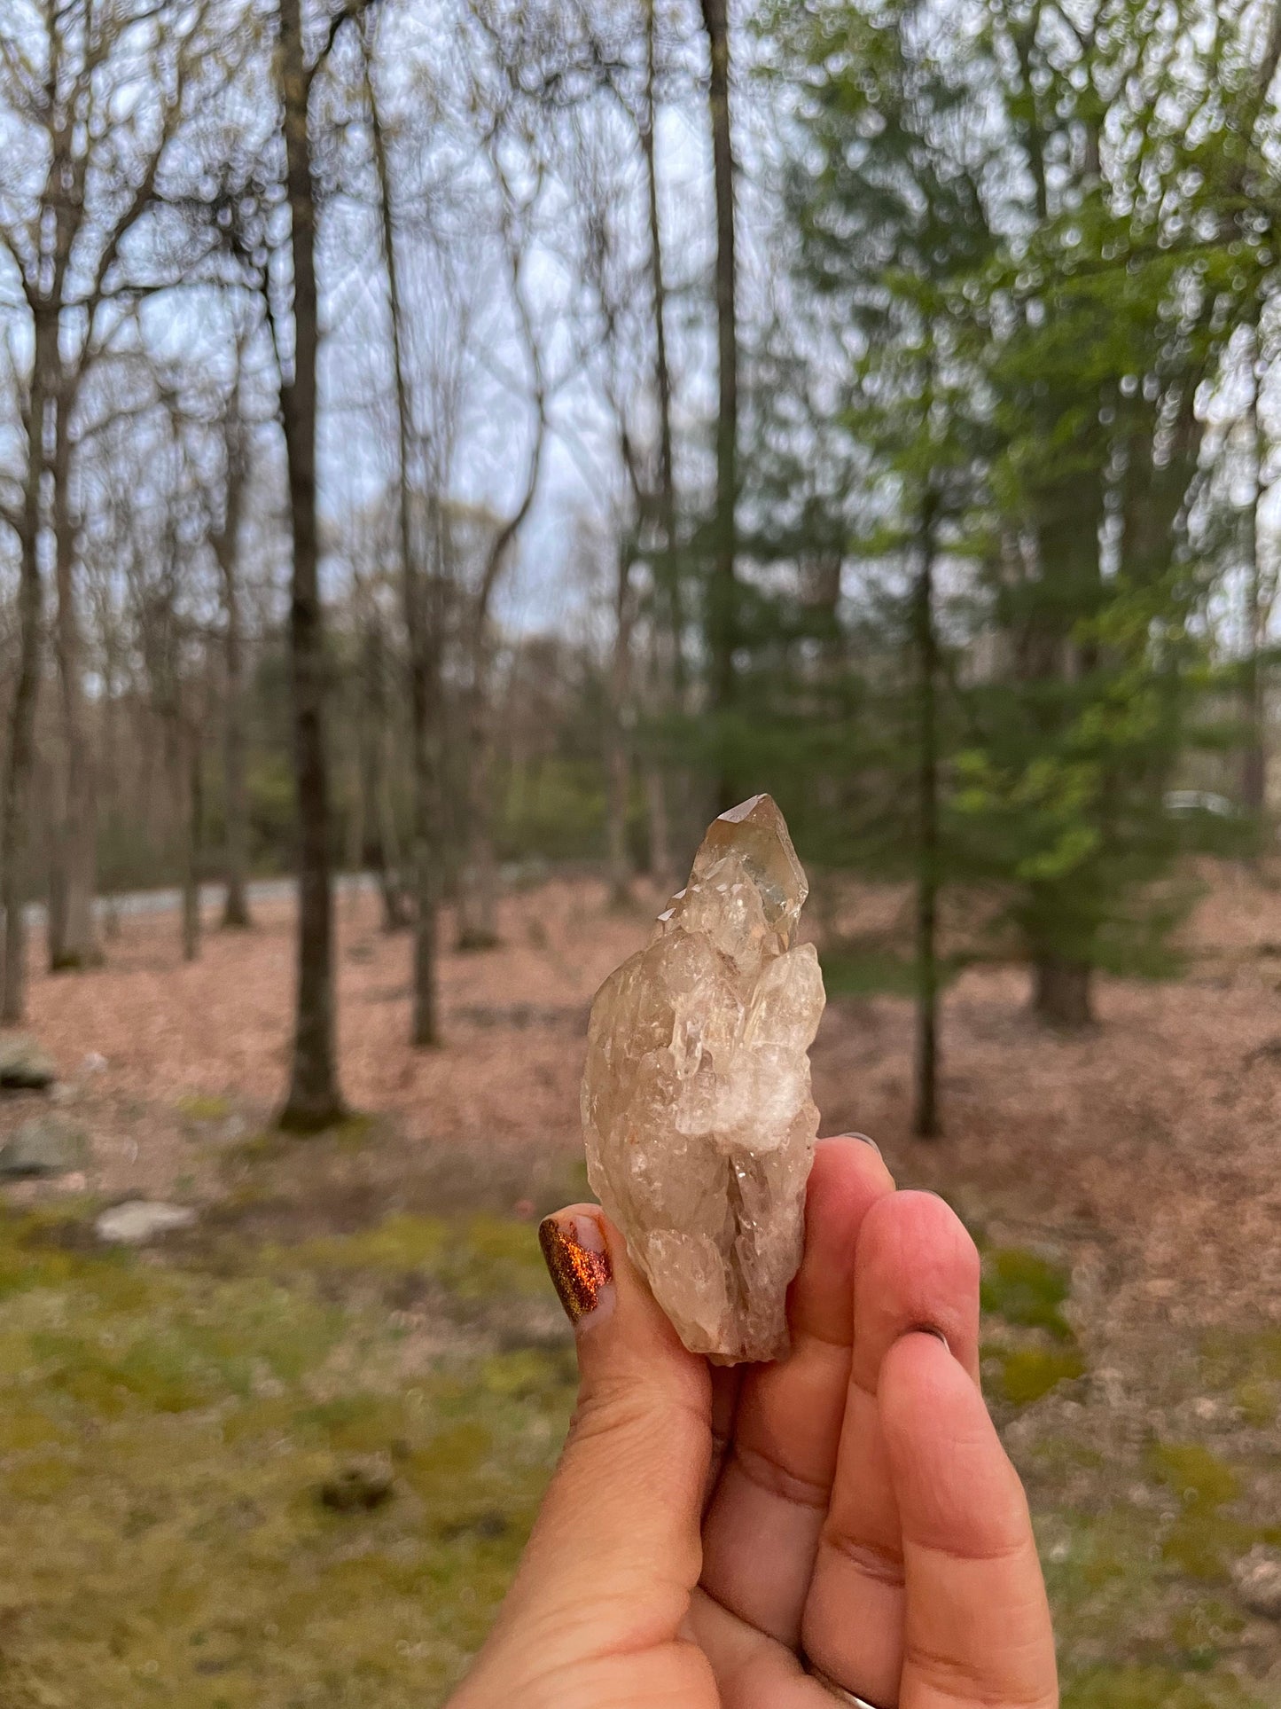
M1054 1709L1015 1468L979 1393L979 1256L823 1140L772 1365L685 1352L594 1205L548 1219L579 1403L451 1709Z

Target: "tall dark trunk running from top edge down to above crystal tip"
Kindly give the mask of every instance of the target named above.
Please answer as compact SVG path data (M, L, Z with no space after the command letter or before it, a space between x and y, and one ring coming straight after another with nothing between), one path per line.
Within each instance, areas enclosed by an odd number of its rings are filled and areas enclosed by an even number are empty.
M716 179L716 345L719 398L716 412L716 530L709 612L709 665L712 711L724 719L734 704L734 648L738 643L738 583L734 579L734 509L738 499L738 330L734 306L734 152L729 125L729 7L728 0L702 0L711 55L707 99L712 123ZM717 808L733 807L740 779L728 759L728 731L721 735L716 781Z

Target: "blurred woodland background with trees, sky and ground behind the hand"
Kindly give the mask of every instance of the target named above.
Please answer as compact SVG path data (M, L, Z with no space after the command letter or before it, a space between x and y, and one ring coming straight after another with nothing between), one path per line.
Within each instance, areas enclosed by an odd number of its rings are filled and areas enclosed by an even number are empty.
M574 1407L593 991L758 791L1064 1709L1281 1700L1279 62L0 0L5 1709L447 1700Z

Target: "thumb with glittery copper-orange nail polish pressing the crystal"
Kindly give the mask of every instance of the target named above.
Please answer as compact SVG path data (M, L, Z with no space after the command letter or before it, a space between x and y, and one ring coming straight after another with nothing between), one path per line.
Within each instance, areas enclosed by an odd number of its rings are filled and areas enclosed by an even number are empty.
M538 1230L574 1323L579 1398L494 1646L541 1668L670 1642L702 1567L711 1374L596 1205Z

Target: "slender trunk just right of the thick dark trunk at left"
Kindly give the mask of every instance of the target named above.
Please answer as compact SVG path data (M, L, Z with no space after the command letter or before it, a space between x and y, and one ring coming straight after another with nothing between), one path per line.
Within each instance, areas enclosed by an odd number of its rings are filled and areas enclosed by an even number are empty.
M429 610L420 554L413 550L410 528L410 403L405 386L405 352L401 349L400 268L396 229L391 217L391 183L386 137L377 113L377 96L369 80L374 161L383 215L383 260L388 270L388 311L391 320L391 371L396 385L396 429L400 449L400 492L396 520L400 526L400 569L405 605L405 636L410 655L410 755L413 767L413 1013L410 1042L425 1049L441 1042L437 1001L437 913L439 913L439 656L437 620ZM437 520L439 521L439 520ZM436 602L432 602L436 603Z

